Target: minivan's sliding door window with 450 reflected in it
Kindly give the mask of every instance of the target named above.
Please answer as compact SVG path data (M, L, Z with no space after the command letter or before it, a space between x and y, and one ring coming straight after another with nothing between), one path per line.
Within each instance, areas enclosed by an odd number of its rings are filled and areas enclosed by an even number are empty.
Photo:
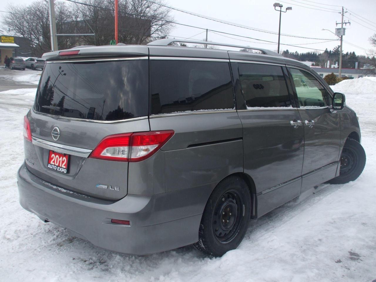
M282 67L240 63L238 69L247 109L291 106Z

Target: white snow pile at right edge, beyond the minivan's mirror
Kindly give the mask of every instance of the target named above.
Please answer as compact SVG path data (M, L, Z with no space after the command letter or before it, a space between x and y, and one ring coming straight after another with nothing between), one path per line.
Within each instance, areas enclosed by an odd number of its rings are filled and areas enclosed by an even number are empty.
M334 92L376 93L376 77L366 76L342 80L331 88Z

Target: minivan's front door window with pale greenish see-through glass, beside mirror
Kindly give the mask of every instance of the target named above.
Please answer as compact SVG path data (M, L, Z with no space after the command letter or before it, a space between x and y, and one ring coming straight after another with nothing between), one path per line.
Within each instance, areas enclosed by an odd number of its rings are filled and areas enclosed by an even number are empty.
M300 107L326 107L327 93L325 88L308 71L290 68Z

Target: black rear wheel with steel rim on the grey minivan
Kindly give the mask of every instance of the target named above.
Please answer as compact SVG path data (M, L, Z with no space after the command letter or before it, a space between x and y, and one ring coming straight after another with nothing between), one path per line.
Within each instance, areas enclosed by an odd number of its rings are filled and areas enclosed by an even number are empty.
M194 247L213 256L236 249L246 234L251 211L248 185L238 176L222 180L202 214L199 241Z

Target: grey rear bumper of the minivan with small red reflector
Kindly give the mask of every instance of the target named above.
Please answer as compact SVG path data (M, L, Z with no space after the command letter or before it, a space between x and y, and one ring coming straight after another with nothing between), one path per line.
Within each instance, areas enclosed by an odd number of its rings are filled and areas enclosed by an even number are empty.
M198 241L203 207L181 205L185 190L190 189L152 196L128 195L114 202L52 185L30 173L25 164L17 178L24 209L98 247L147 255ZM200 213L194 214L195 210ZM111 223L111 218L129 220L130 225Z

